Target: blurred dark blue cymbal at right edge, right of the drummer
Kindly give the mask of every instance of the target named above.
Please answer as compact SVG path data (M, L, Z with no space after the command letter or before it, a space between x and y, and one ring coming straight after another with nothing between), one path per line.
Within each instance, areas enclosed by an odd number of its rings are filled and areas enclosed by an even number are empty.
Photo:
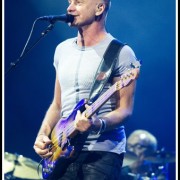
M146 157L145 160L157 164L173 163L175 162L175 153L168 151L157 151L151 156Z

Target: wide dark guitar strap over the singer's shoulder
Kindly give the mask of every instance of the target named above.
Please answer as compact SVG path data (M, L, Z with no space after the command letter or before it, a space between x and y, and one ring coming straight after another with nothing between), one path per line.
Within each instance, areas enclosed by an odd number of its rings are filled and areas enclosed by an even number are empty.
M113 39L107 47L101 63L96 71L94 82L89 95L89 104L93 103L100 95L104 85L110 78L112 70L117 62L120 50L125 44Z

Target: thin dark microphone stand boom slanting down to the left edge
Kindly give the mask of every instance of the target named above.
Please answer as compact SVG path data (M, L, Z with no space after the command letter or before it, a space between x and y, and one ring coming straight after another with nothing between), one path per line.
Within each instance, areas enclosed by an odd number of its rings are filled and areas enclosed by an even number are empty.
M37 20L38 20L38 19L36 19L36 21L37 21ZM36 21L35 21L35 23L36 23ZM35 23L34 23L34 24L35 24ZM51 22L51 24L49 24L48 27L47 27L45 30L42 31L41 36L35 41L35 43L34 43L29 49L27 49L26 52L24 52L24 51L25 51L25 49L24 49L23 52L21 53L20 57L19 57L16 61L10 63L10 68L9 68L8 71L5 73L5 75L7 75L13 68L15 68L15 67L17 66L17 64L20 62L20 60L22 60L22 59L24 58L24 56L25 56L27 53L29 53L29 51L30 51L36 44L38 44L38 42L39 42L43 37L45 37L45 36L48 34L48 32L50 32L50 31L53 29L54 24L55 24L55 22ZM31 34L30 34L30 35L31 35ZM30 37L29 37L29 38L30 38ZM27 40L27 43L28 43L28 41L29 41L29 38L28 38L28 40ZM27 43L26 43L26 46L27 46ZM26 46L25 46L25 47L26 47Z

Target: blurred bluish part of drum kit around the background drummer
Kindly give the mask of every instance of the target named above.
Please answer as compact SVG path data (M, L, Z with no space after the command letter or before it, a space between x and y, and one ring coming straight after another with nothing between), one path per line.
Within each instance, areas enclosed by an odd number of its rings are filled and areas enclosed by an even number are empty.
M135 163L138 158L127 152L124 157L123 167L130 166ZM144 162L148 165L145 172L141 173L129 173L129 179L133 180L168 180L168 165L169 163L175 163L175 153L165 151L164 149L156 151L151 156L145 157Z

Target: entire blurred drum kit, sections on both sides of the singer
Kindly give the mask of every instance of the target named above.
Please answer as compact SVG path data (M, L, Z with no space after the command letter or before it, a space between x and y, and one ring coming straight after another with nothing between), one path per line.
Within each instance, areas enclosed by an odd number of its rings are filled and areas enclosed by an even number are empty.
M160 150L144 159L150 164L148 171L143 174L130 173L133 180L167 180L168 164L175 162L175 153ZM137 161L137 157L126 153L123 167L129 166ZM4 153L3 172L5 180L40 180L42 178L42 166L36 161L19 154ZM133 178L132 178L133 177Z

